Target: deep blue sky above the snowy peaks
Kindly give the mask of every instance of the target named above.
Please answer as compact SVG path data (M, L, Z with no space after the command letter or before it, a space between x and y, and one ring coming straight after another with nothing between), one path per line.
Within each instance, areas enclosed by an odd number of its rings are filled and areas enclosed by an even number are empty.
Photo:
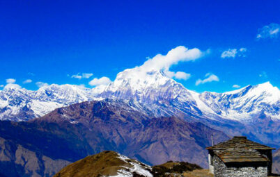
M280 87L279 9L280 1L0 1L0 86L13 78L29 90L92 87L185 46L207 53L170 68L190 74L176 79L189 90ZM88 78L71 77L78 73Z

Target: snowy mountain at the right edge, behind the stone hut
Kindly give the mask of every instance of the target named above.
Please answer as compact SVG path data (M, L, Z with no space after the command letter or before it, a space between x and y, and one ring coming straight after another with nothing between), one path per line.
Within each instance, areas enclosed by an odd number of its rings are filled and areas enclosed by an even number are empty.
M246 121L263 112L280 119L280 91L269 82L221 94L203 92L199 98L224 118Z

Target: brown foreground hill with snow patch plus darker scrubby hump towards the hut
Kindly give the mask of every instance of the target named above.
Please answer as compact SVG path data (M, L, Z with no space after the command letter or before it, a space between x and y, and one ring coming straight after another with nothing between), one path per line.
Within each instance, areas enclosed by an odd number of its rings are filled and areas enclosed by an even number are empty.
M103 151L90 155L64 167L54 177L153 177L153 176L179 176L185 171L201 169L199 165L188 162L169 161L162 165L150 167L137 160L127 158L114 151Z

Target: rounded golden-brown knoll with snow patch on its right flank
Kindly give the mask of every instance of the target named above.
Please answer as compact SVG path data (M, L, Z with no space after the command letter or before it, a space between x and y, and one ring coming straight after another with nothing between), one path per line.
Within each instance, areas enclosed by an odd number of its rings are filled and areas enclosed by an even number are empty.
M114 151L103 151L64 167L54 177L146 176L152 168Z

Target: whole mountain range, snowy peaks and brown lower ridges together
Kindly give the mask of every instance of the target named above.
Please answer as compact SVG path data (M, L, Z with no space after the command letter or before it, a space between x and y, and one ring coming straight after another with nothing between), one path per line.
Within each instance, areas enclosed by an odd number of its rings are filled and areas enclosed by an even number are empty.
M279 113L280 91L269 82L197 93L165 71L141 67L93 89L9 87L0 91L0 175L52 176L105 150L148 165L178 160L207 167L211 135L215 143L245 135L279 148Z

